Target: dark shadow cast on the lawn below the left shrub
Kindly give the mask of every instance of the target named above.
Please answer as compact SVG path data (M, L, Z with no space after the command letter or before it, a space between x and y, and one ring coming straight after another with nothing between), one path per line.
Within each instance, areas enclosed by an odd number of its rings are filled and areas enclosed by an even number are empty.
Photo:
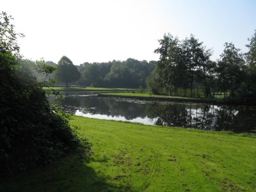
M102 159L106 161L106 159ZM126 186L108 184L104 173L96 173L85 159L69 156L58 163L1 179L0 191L127 191Z

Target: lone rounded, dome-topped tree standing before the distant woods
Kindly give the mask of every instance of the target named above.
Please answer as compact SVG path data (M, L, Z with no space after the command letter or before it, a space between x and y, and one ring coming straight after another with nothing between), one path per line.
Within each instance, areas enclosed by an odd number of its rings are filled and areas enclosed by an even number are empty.
M72 61L63 56L58 62L56 76L59 81L65 82L68 87L69 82L77 81L81 75Z

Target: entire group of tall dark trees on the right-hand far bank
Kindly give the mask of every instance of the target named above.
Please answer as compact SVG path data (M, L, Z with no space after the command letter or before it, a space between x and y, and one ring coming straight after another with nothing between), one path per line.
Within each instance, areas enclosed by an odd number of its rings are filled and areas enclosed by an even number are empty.
M226 42L220 58L212 61L212 50L195 36L179 40L164 35L155 51L160 58L148 78L148 88L155 94L214 98L223 93L252 100L256 97L256 31L248 40L245 54Z

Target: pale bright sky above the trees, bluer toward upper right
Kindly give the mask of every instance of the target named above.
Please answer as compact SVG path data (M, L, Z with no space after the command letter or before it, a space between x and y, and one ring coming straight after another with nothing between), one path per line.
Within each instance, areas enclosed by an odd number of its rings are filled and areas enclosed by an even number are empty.
M20 53L31 60L74 65L113 60L158 60L158 40L195 35L218 60L225 42L246 52L256 29L256 0L0 0L12 15Z

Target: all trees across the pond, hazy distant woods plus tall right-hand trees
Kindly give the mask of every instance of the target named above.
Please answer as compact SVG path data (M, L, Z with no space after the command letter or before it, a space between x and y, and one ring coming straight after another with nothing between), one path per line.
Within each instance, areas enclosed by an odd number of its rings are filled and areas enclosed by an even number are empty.
M83 63L75 66L63 56L53 77L59 84L80 86L138 88L147 87L150 93L182 97L222 97L250 102L256 95L255 47L256 32L248 38L248 52L242 53L233 43L225 43L217 61L194 35L179 40L164 35L155 50L159 61L126 61ZM37 77L42 75L37 74Z

